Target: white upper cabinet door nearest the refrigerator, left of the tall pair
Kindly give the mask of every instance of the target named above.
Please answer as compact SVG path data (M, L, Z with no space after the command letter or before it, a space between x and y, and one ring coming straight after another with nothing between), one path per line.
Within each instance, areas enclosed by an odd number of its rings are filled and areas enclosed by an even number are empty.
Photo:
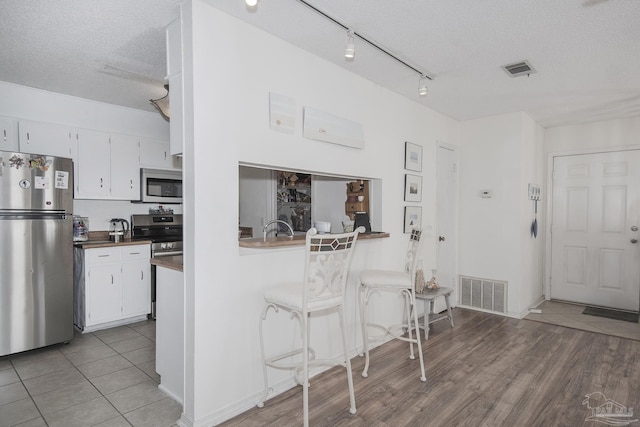
M78 161L75 176L76 199L108 199L111 182L109 134L78 131Z

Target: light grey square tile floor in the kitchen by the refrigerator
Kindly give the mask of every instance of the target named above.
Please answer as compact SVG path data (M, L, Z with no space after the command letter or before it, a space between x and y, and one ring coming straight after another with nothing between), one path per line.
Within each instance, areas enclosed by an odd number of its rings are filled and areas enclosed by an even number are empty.
M155 322L0 357L0 427L169 427L182 406L158 389Z

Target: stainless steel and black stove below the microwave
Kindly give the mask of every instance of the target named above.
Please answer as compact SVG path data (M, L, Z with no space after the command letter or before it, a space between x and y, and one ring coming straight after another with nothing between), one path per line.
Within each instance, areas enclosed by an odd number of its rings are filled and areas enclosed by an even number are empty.
M131 215L131 239L151 240L151 257L182 255L182 215ZM151 319L156 318L156 266L151 266Z

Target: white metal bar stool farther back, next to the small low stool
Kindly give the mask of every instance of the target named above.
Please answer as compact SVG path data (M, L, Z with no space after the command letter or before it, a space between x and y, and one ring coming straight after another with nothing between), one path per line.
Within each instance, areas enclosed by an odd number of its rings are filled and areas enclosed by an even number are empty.
M420 237L422 230L412 230L409 236L409 246L405 258L403 271L387 271L387 270L364 270L360 273L360 320L362 322L362 341L363 352L365 354L365 364L362 376L369 375L369 340L384 339L390 335L395 339L409 342L409 358L415 359L413 355L413 344L418 345L418 358L420 359L420 380L426 381L427 377L424 373L424 360L422 356L422 343L420 339L420 331L418 330L418 313L414 309L416 305L415 281L416 281L416 265L420 249ZM367 305L369 297L373 293L380 291L398 292L404 296L407 315L406 324L392 325L385 327L383 325L369 323L367 318ZM413 314L413 321L411 315ZM413 338L412 329L416 328L416 336ZM382 331L382 335L371 336L369 329L377 329ZM405 336L405 331L408 337Z

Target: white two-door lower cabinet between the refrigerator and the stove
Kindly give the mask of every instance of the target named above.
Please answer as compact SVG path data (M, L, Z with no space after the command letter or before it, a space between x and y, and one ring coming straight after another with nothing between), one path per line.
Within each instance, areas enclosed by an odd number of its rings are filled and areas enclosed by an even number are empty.
M143 320L151 311L149 244L75 248L74 323L84 332Z

